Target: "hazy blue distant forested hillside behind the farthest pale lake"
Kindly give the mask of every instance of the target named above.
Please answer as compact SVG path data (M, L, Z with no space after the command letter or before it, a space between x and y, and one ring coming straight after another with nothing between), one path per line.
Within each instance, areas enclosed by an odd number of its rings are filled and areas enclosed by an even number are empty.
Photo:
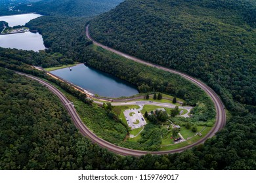
M43 15L95 16L106 12L123 0L42 0L31 5L18 6L22 11Z

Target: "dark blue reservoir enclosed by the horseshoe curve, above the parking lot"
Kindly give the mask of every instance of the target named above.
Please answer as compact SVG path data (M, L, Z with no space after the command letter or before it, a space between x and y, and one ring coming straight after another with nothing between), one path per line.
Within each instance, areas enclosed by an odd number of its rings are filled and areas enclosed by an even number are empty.
M103 97L129 97L138 94L138 90L132 84L104 73L79 64L74 67L51 71L56 76L64 78L73 84Z

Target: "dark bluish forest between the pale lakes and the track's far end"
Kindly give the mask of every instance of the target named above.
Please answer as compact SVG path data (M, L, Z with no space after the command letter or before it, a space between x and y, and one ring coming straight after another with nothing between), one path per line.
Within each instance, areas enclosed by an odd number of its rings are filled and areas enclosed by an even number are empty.
M43 35L49 53L61 53L74 61L82 61L92 44L85 36L85 24L89 18L63 18L62 16L41 16L31 20L26 26Z

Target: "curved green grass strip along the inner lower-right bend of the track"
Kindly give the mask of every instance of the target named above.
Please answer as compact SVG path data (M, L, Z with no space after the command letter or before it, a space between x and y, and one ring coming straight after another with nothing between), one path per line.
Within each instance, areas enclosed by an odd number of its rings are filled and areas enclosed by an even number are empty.
M171 145L171 146L161 146L160 151L161 150L175 150L177 148L182 148L184 146L193 144L194 142L202 139L207 133L209 133L210 130L211 130L211 127L205 127L205 129L202 131L202 137L196 135L196 137L193 137L192 139L189 139L188 141L185 141L185 142L181 142L181 143Z

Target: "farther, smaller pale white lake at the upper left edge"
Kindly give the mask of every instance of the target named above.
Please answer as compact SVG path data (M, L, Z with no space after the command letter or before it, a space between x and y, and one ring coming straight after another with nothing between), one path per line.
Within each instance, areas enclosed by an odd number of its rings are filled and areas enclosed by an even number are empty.
M0 21L5 21L9 24L9 27L13 27L16 25L25 25L37 17L41 16L41 14L29 13L29 14L16 14L11 16L0 16Z

